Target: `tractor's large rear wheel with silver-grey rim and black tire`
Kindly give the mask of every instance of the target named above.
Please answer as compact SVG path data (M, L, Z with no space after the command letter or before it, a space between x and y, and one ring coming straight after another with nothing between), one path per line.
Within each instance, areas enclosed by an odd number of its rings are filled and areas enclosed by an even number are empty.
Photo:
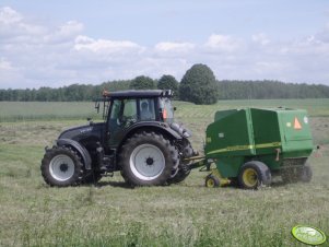
M139 132L119 154L122 177L131 186L161 186L171 177L178 153L169 140L155 132Z

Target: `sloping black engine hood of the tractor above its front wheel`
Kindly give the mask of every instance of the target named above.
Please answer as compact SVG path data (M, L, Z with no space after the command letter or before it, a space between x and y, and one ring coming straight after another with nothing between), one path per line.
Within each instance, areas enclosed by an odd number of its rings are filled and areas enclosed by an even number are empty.
M104 132L105 124L90 124L86 126L73 127L68 130L64 130L58 139L70 139L78 142L81 142L86 139L97 139L102 140L102 133Z

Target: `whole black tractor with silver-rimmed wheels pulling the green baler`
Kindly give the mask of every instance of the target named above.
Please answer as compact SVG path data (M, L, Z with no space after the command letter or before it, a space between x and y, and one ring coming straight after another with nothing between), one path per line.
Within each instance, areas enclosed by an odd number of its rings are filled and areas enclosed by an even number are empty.
M174 121L171 91L104 92L102 122L63 131L46 148L42 174L50 186L97 183L120 170L131 186L184 180L193 155L190 131Z

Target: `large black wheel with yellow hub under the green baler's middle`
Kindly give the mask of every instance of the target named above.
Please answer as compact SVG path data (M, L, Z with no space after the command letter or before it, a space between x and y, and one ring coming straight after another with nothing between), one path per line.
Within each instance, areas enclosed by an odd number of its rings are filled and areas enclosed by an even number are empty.
M251 181L246 180L249 178L252 178ZM271 181L272 176L269 167L258 161L245 163L238 173L238 184L244 189L257 189L262 185L270 185Z

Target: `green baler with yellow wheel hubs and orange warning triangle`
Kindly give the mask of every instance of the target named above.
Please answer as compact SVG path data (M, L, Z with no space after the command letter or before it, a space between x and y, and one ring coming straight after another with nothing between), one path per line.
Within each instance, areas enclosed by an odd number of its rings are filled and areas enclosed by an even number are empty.
M269 185L272 175L284 181L309 181L306 160L313 152L306 110L245 108L221 110L207 128L204 162L216 168L208 187L236 181L254 189Z

